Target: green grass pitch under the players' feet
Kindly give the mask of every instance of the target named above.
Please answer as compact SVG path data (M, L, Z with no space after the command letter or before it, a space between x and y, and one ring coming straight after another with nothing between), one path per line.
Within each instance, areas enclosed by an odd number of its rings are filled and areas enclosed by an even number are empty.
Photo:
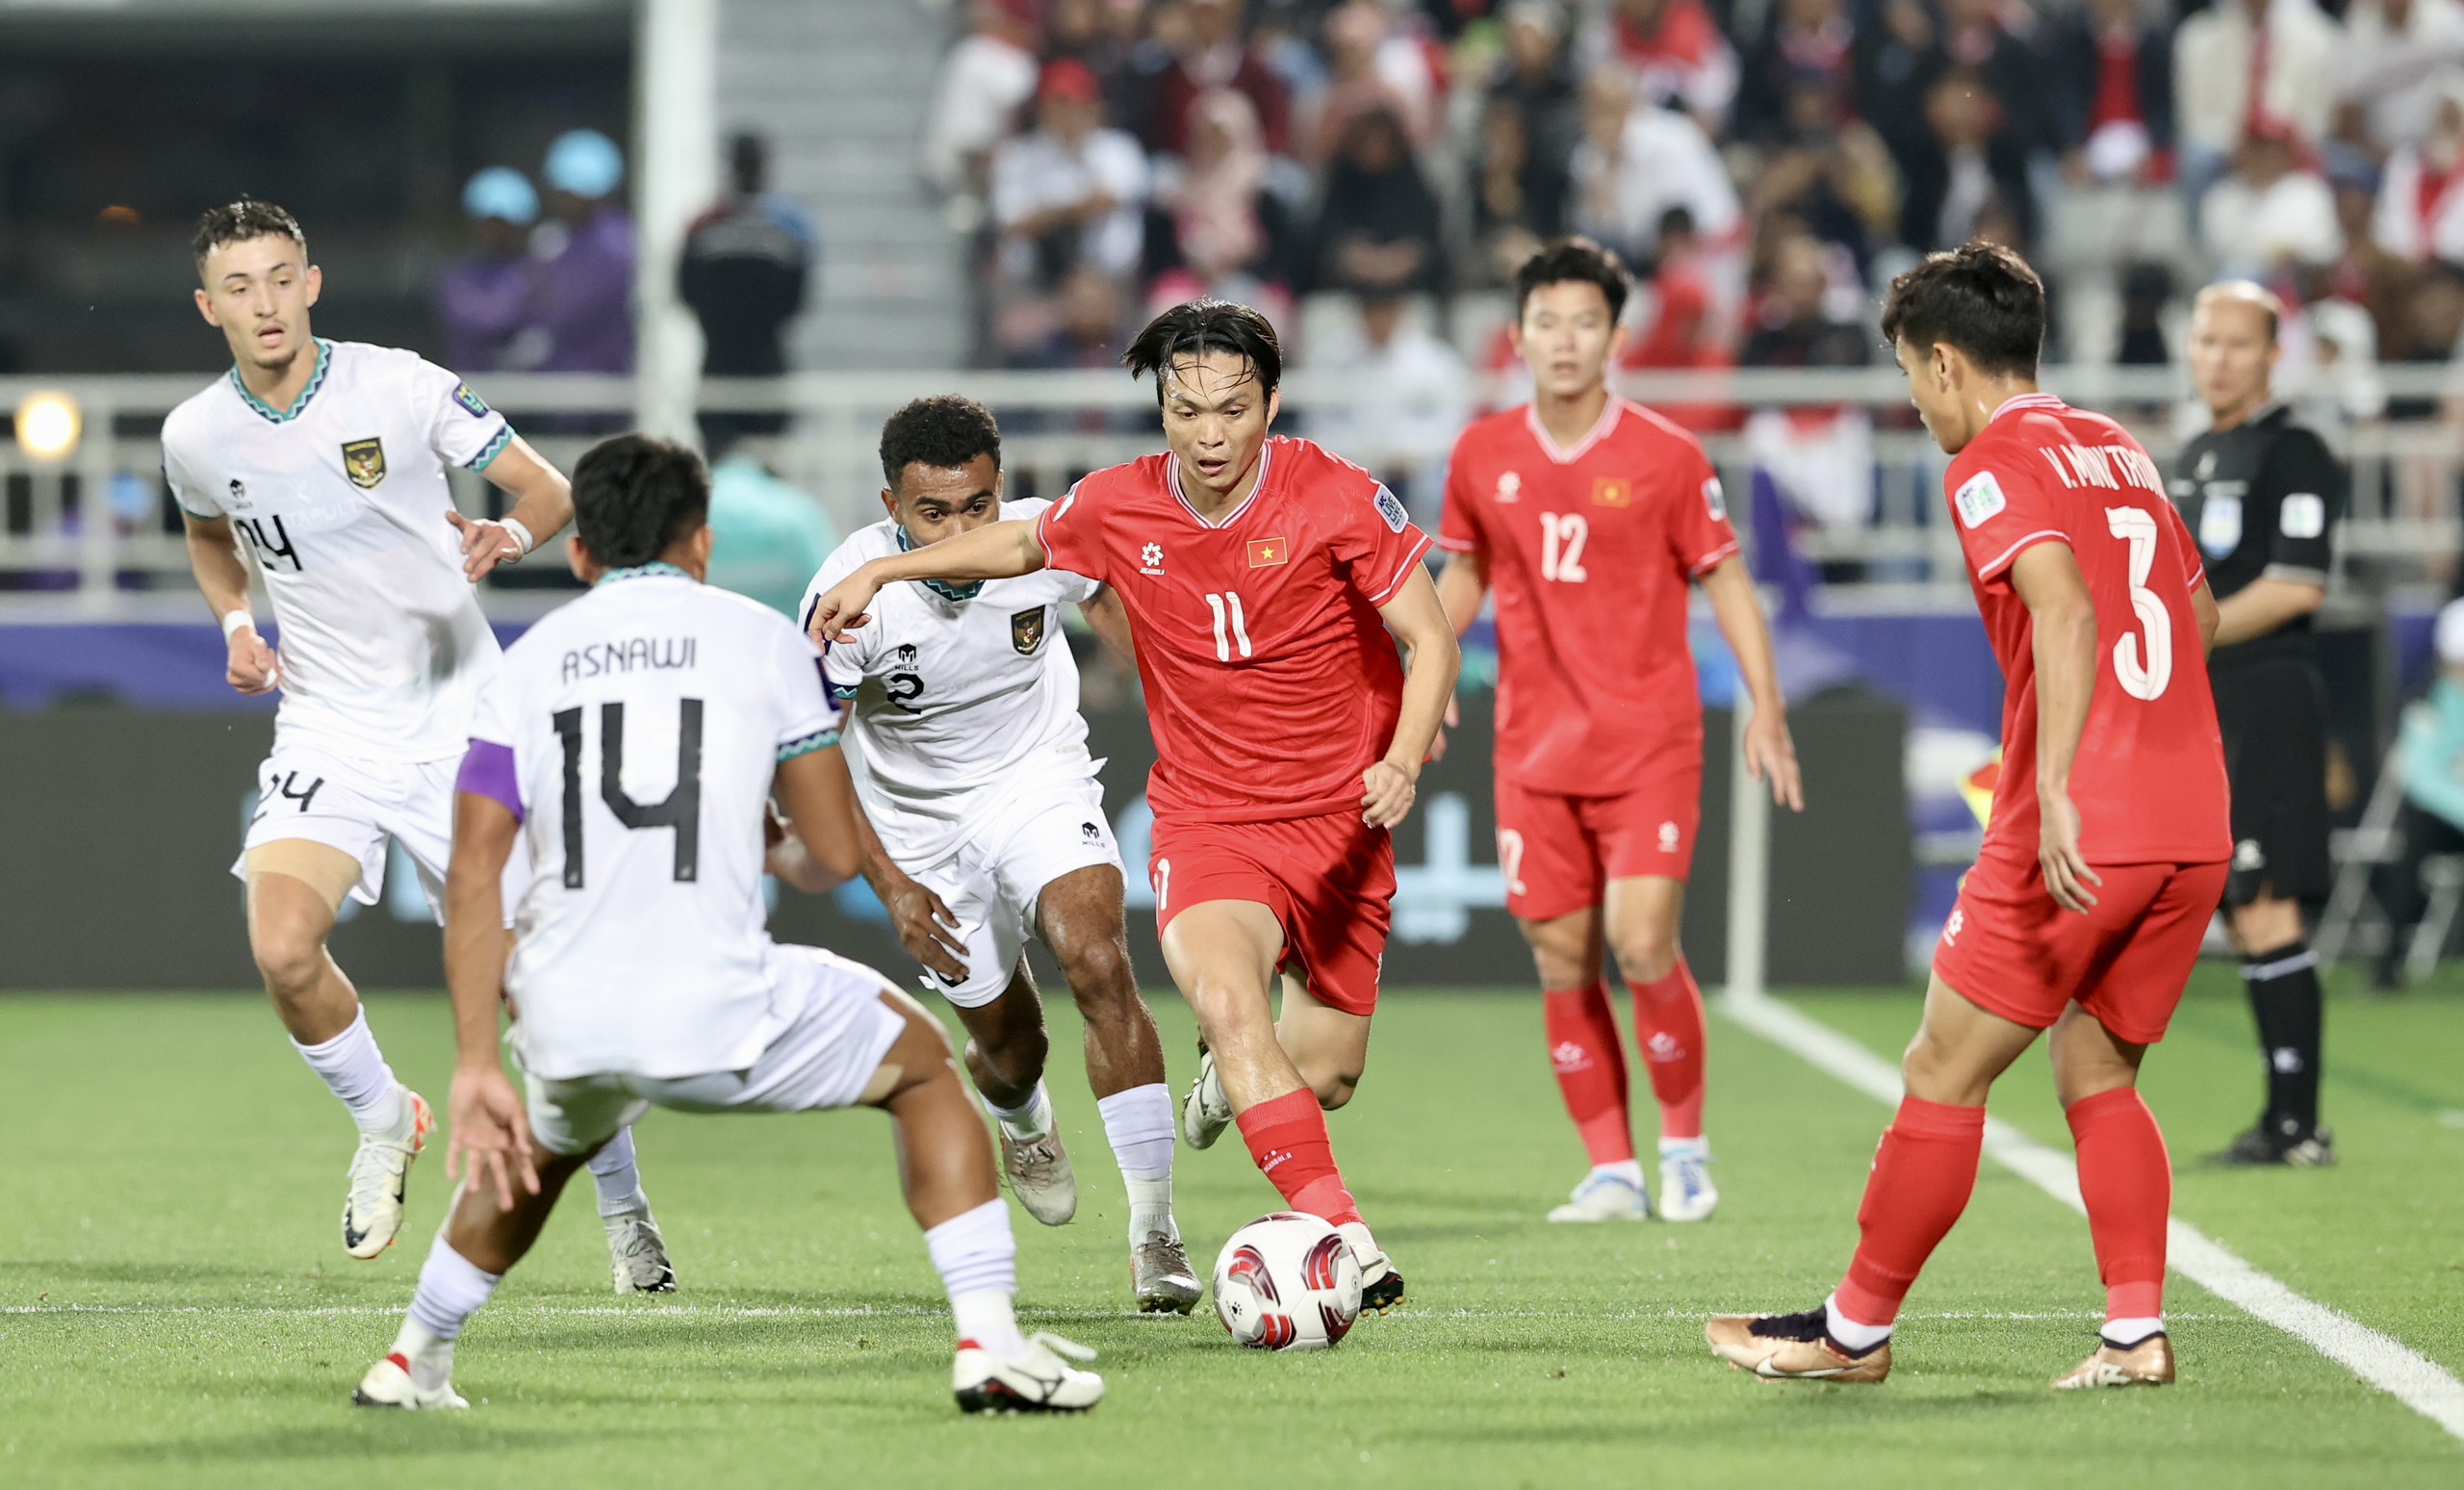
M1190 1025L1168 993L1156 1002L1178 1096ZM1878 1052L1917 1017L1912 993L1799 1005ZM372 1020L444 1103L444 1002L377 997ZM1079 1219L1047 1231L1013 1217L1027 1327L1104 1352L1111 1394L1094 1416L954 1411L949 1320L872 1113L650 1116L643 1177L683 1293L609 1293L577 1177L463 1337L463 1416L347 1404L441 1217L441 1150L411 1175L404 1241L355 1263L335 1239L350 1128L261 1000L0 997L0 1483L2464 1483L2464 1443L2181 1278L2178 1387L2048 1391L2102 1308L2087 1226L1991 1162L1910 1298L1887 1387L1764 1387L1720 1367L1705 1313L1804 1308L1838 1276L1885 1108L1717 1017L1715 1222L1545 1224L1582 1155L1535 1000L1400 993L1335 1145L1412 1281L1407 1310L1316 1357L1237 1350L1205 1305L1133 1318L1119 1172L1077 1027L1064 1010L1052 1022ZM2181 1167L2178 1214L2464 1372L2457 1049L2454 983L2341 997L2326 1106L2343 1167L2203 1172L2195 1155L2257 1106L2240 985L2203 970L2146 1084ZM1996 1111L2067 1148L2043 1057L2020 1061ZM1274 1207L1237 1143L1180 1153L1202 1271Z

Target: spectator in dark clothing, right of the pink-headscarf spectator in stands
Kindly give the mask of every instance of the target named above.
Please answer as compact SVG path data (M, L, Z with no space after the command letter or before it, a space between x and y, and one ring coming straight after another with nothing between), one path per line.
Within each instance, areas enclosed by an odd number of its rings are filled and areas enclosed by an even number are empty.
M1446 286L1437 192L1390 108L1353 118L1326 170L1313 286L1397 296Z

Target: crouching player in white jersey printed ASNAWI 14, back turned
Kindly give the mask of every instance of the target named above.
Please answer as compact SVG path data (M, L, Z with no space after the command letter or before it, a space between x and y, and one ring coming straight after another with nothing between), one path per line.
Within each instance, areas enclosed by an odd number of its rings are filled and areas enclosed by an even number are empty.
M702 584L710 483L643 436L574 468L574 571L594 589L532 626L480 697L446 884L451 1148L471 1162L419 1293L355 1391L365 1406L468 1406L453 1340L530 1251L584 1158L650 1106L877 1106L907 1207L958 1325L966 1411L1084 1411L1082 1347L1018 1330L1018 1244L993 1145L949 1037L880 973L764 928L769 798L818 869L855 872L855 791L813 643ZM517 852L520 850L520 852ZM513 965L498 884L530 864ZM498 1049L498 1010L522 1010Z

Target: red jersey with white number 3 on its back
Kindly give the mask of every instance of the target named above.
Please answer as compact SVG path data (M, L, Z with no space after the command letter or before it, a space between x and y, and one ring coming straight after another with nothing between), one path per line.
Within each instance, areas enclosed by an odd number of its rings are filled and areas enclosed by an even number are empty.
M2003 771L1984 857L2035 864L2035 623L2011 564L2067 544L2097 603L2097 687L2070 768L2089 864L2232 855L2225 746L2190 591L2198 547L2156 461L2112 419L2053 394L2006 401L1942 478L2003 670Z

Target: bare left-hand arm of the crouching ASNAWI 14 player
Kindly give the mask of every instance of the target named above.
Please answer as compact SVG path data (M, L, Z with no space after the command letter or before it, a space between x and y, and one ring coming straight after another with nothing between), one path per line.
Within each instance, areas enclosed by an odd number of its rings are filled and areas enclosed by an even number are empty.
M453 995L446 1177L461 1177L468 1160L468 1185L495 1190L498 1209L508 1212L515 1185L540 1192L530 1113L522 1111L522 1096L505 1076L498 1052L510 951L503 882L520 832L522 820L503 800L476 791L453 793L453 860L446 864L446 990Z

